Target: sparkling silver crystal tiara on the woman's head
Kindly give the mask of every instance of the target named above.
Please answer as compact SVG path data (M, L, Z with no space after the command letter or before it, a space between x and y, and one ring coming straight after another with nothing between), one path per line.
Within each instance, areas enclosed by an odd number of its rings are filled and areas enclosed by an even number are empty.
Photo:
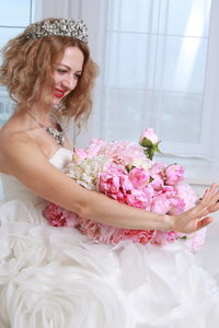
M42 38L44 36L70 36L80 42L88 43L88 30L82 20L46 20L30 25L25 31L27 38Z

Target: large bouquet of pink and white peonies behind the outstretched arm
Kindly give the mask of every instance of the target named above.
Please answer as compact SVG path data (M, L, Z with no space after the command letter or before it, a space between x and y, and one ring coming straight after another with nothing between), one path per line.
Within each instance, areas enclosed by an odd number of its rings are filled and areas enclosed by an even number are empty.
M64 172L84 188L122 203L160 214L180 214L195 206L196 196L184 181L183 166L153 161L154 152L160 152L159 143L153 129L141 134L139 144L93 139L87 149L76 150ZM80 218L51 202L44 209L44 216L53 226L78 229L99 243L165 245L183 239L193 253L204 244L206 231L184 235L174 231L119 229Z

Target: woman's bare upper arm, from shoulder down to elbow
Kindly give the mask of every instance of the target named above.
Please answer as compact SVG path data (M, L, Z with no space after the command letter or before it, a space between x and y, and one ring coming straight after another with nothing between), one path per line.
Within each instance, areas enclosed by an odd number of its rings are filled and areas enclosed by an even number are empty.
M27 133L0 133L0 144L1 171L34 194L76 212L90 199L90 191L55 167Z

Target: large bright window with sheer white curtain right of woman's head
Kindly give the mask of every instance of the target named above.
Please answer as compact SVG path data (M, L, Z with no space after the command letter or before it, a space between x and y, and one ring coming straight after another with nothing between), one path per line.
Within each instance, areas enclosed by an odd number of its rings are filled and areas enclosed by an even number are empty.
M100 77L90 138L138 141L153 127L163 161L186 166L189 183L219 177L217 0L39 0L36 17L83 19Z

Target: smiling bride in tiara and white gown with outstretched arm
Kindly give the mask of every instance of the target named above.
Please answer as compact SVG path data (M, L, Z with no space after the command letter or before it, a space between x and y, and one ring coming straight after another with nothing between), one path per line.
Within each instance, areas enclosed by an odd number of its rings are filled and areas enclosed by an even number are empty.
M191 233L219 209L215 184L192 210L160 215L89 191L61 172L73 147L59 120L80 125L91 108L96 67L87 38L82 22L49 19L3 50L0 81L16 108L0 132L0 327L216 327L215 283L182 245L96 245L49 227L42 215L49 200L114 226Z

